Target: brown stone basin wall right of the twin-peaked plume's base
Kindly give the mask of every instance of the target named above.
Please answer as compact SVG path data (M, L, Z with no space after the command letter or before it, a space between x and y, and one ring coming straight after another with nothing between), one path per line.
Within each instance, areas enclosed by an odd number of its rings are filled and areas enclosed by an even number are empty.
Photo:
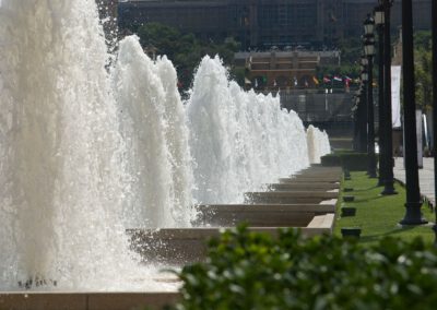
M198 205L197 226L235 226L247 223L256 227L303 227L316 216L334 213L335 205L326 204L222 204Z

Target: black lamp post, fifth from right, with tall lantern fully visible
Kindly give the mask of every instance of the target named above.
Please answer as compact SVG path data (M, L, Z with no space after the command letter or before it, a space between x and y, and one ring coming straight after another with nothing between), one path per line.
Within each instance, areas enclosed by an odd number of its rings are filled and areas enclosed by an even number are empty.
M364 22L364 53L367 57L367 174L370 178L376 178L376 157L375 157L375 118L374 118L374 56L375 56L375 21L367 15Z

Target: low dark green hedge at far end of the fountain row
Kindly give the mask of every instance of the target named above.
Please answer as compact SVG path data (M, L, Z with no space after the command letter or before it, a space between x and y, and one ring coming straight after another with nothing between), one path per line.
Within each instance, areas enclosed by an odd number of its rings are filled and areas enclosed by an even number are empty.
M377 160L375 156L375 160ZM367 170L369 157L366 153L334 153L321 157L322 166L341 166L350 171Z

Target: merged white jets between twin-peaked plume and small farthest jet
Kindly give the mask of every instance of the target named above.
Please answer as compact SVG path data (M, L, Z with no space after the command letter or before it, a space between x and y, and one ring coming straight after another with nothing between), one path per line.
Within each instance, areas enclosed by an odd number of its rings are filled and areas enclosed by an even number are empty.
M204 57L188 102L190 147L196 162L194 198L232 203L308 166L305 129L279 97L244 92L228 82L218 57Z

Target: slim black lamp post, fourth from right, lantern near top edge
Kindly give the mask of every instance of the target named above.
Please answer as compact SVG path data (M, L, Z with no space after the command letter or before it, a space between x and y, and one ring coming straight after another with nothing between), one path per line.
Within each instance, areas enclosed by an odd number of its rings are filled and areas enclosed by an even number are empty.
M378 144L379 144L379 176L378 176L378 187L385 184L385 172L386 172L386 162L385 162L385 147L386 142L383 140L383 128L387 120L385 120L385 105L383 105L383 23L385 14L383 7L379 5L375 9L375 25L378 33Z

